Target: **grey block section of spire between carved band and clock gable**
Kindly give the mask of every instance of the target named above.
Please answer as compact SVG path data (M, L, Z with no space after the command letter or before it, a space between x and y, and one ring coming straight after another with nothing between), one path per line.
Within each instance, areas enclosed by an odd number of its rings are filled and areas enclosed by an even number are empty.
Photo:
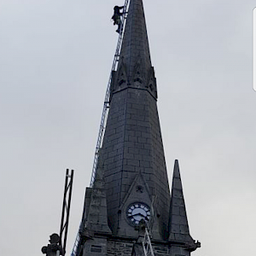
M158 196L161 226L167 230L170 192L156 101L148 90L128 88L113 95L101 157L112 229L117 228L120 204L141 172L150 194Z

